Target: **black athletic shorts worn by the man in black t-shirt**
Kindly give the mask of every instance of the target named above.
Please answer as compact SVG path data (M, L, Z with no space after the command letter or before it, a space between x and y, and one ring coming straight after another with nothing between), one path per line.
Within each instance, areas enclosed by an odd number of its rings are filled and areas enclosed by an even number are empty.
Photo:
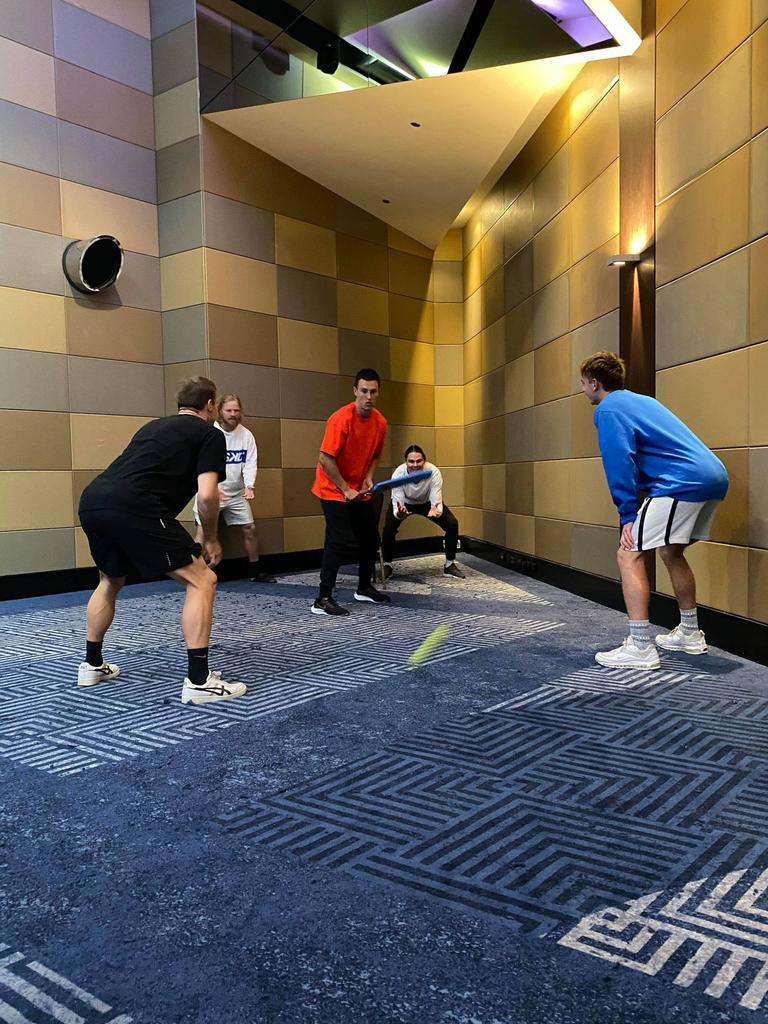
M188 565L201 547L175 519L159 519L124 509L80 513L91 556L109 577L153 580Z

